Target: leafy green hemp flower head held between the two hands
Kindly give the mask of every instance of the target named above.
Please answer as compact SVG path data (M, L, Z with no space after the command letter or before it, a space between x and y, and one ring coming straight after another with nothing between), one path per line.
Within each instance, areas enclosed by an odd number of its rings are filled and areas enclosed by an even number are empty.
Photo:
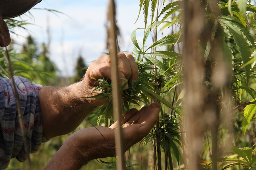
M151 100L155 102L161 102L165 106L174 109L173 106L161 95L157 94L155 86L165 82L154 82L155 80L161 80L161 75L155 76L152 74L152 70L155 70L154 67L151 67L150 62L142 61L140 57L137 58L136 63L139 70L139 77L137 81L134 81L128 84L128 80L121 86L121 95L122 95L122 106L123 114L125 110L129 111L129 105L134 104L140 106L141 104L150 104ZM94 103L99 102L107 98L107 101L99 107L99 117L97 120L97 125L100 125L100 120L103 115L104 117L104 126L108 127L110 125L110 120L113 117L113 108L112 108L112 85L111 80L108 78L102 78L97 81L97 88L93 90L101 91L101 93L94 95L88 98L98 98ZM125 89L125 86L128 84L128 89Z

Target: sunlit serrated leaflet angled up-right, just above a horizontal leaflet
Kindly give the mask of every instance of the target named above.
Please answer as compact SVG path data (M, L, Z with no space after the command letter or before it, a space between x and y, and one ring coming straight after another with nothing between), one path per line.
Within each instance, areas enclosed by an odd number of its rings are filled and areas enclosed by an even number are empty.
M164 38L161 38L160 40L156 41L148 49L151 49L151 48L154 48L154 47L166 46L166 45L170 45L170 44L176 43L178 41L178 36L179 36L179 34L167 35Z

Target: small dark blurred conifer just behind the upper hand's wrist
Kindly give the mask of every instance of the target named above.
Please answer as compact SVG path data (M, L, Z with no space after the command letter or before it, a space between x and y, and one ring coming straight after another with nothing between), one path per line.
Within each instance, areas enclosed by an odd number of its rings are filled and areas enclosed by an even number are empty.
M75 76L73 78L74 82L78 82L83 78L83 75L85 74L88 66L86 66L85 61L81 55L79 55L77 62L76 62L76 67L75 67Z

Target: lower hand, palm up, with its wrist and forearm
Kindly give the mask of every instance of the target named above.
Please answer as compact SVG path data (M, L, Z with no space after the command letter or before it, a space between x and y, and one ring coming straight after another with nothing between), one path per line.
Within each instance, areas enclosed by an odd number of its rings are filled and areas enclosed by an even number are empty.
M138 143L156 124L159 115L159 105L152 103L140 111L131 109L124 116L124 149L128 150ZM136 122L136 123L135 123ZM45 170L70 169L78 170L92 159L115 155L114 131L116 123L110 128L90 127L81 129L70 135L56 155L51 159Z

